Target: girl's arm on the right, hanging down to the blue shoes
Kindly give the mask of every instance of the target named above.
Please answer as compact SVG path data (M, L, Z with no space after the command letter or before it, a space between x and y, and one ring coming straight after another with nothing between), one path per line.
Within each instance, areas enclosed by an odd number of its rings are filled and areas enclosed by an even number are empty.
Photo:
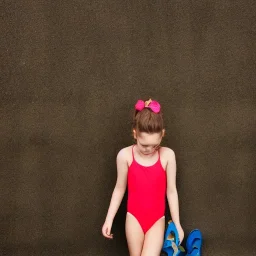
M172 221L174 222L180 238L180 243L184 238L184 231L180 224L180 216L179 216L179 199L178 192L176 188L176 158L173 150L167 150L167 200L170 208L170 213L172 217Z

